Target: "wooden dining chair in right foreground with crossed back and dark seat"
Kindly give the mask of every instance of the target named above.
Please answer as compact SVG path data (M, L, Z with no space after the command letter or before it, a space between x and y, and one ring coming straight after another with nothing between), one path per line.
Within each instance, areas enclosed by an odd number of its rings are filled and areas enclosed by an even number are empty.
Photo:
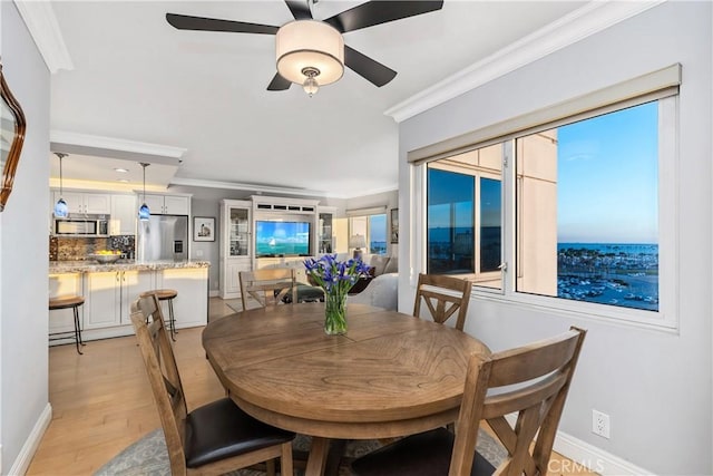
M490 475L496 468L476 451L480 421L486 420L508 453L499 475L546 475L585 334L570 328L516 349L471 356L455 435L438 428L406 437L352 462L353 473ZM515 426L506 419L509 414L517 414Z

